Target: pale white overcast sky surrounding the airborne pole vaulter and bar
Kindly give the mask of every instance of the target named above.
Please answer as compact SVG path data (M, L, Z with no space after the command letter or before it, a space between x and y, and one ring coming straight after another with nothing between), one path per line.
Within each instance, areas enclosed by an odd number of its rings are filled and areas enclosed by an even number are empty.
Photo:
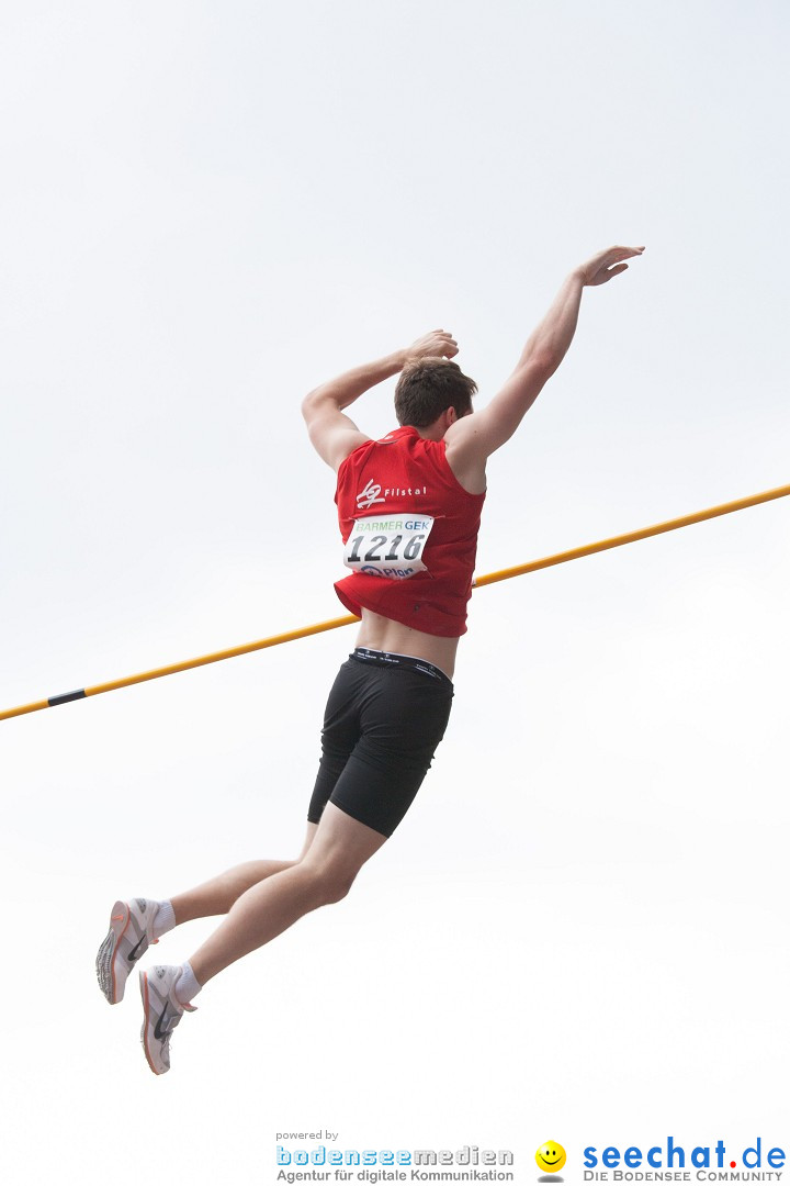
M482 403L612 242L647 251L493 460L479 570L790 482L786 6L0 20L0 707L341 612L301 396L441 325ZM321 1126L520 1181L546 1139L569 1182L586 1144L790 1148L789 514L480 591L406 822L161 1079L95 986L108 907L300 846L353 632L2 723L4 1180L269 1184Z

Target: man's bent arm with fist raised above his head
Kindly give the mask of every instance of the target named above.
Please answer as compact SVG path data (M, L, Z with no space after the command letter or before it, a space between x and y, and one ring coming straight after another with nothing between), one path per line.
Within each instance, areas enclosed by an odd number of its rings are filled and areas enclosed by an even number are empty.
M343 409L365 391L397 375L406 363L417 358L452 358L457 352L458 344L449 333L432 330L405 350L398 350L378 362L355 366L354 370L316 387L302 401L302 415L319 455L333 470L339 470L349 453L370 440L349 416L343 415Z

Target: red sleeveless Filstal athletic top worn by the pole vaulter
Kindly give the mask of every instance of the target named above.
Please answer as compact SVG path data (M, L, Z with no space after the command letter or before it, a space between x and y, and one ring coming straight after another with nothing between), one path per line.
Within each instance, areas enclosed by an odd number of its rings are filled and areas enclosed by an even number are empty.
M444 441L416 428L360 445L340 466L335 495L352 569L335 584L346 608L443 638L465 633L484 498L458 483Z

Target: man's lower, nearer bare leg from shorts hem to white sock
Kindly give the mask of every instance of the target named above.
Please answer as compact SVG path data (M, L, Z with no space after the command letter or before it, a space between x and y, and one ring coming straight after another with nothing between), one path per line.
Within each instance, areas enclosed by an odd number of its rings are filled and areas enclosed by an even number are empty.
M198 983L205 984L269 943L303 914L345 898L362 865L386 839L328 803L306 855L243 893L191 957Z

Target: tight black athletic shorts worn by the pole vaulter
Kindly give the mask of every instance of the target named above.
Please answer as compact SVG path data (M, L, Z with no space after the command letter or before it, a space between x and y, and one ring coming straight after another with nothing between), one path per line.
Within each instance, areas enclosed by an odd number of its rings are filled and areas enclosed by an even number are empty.
M452 682L407 655L358 648L338 672L321 733L321 765L307 814L327 802L391 836L444 737Z

